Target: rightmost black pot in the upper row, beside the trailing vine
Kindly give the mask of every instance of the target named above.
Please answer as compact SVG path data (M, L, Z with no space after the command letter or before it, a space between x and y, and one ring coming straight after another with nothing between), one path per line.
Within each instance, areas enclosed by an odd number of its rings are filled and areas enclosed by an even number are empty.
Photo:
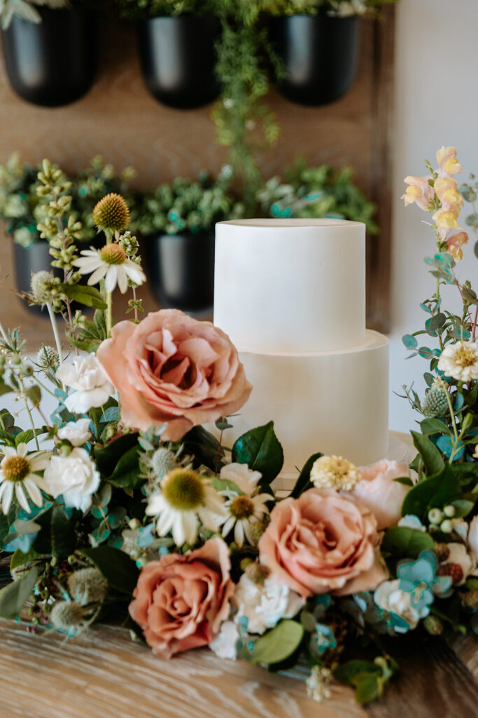
M272 18L270 36L287 67L279 92L309 106L342 97L355 78L359 27L357 16L319 13Z

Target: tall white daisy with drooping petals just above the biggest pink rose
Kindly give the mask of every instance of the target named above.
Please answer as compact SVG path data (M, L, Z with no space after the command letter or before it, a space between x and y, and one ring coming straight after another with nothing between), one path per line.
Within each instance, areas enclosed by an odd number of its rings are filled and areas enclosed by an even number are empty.
M101 249L84 249L82 257L75 259L73 264L78 267L80 274L91 274L88 284L98 284L105 279L105 290L108 294L113 292L118 284L120 292L124 294L128 289L128 279L137 286L146 281L142 269L132 260L128 259L125 249L115 242L105 244Z

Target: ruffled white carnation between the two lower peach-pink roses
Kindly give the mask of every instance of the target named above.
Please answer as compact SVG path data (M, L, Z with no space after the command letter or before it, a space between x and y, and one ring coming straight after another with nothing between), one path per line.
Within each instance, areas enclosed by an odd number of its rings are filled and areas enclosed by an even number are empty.
M304 602L289 587L265 579L255 583L242 574L234 593L233 602L237 607L236 620L247 618L249 633L264 633L274 628L281 618L292 618L300 611Z

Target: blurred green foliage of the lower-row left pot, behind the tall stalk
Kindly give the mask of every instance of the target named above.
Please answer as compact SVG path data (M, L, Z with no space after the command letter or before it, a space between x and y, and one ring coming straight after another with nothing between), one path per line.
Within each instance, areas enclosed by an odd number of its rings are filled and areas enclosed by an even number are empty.
M14 241L24 247L39 240L37 224L46 216L44 205L37 195L38 169L22 163L17 153L0 166L0 220L5 223ZM76 176L63 177L64 181L71 183L68 194L72 197L72 213L82 223L77 241L89 242L95 238L97 232L92 220L92 209L108 192L125 195L132 210L131 225L135 231L138 210L135 207L135 195L128 191L130 180L135 177L133 167L126 167L117 174L113 165L106 164L98 155Z

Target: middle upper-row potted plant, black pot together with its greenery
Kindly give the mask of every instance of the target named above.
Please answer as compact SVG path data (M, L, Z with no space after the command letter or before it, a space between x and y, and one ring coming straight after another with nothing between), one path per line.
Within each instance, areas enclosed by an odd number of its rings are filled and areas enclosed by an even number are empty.
M216 42L221 23L214 0L116 0L138 22L138 51L150 93L164 105L197 108L220 92Z

